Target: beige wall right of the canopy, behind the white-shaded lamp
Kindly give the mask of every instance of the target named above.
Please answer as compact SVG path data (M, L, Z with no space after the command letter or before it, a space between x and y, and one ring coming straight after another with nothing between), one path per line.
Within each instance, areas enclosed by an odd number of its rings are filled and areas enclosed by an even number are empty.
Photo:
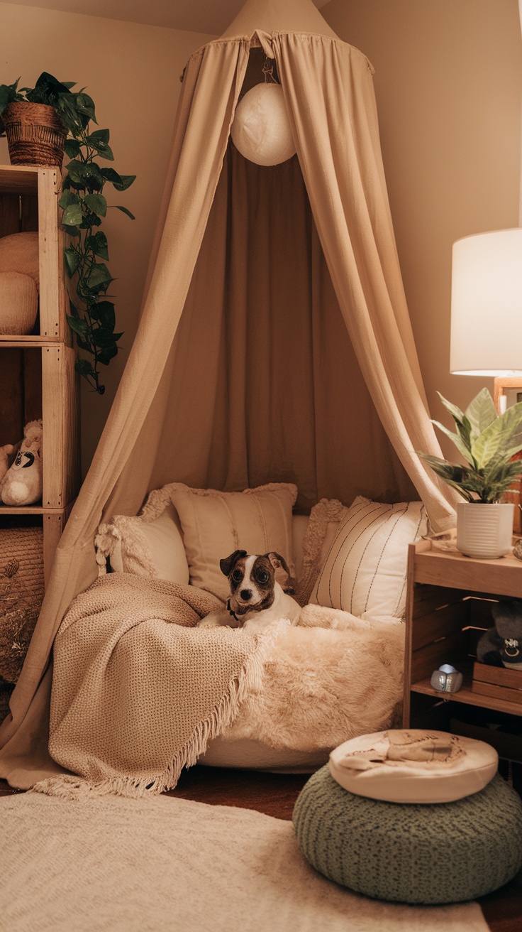
M518 225L517 0L331 0L321 12L376 69L409 312L432 416L449 423L436 390L466 405L492 385L448 372L451 245Z

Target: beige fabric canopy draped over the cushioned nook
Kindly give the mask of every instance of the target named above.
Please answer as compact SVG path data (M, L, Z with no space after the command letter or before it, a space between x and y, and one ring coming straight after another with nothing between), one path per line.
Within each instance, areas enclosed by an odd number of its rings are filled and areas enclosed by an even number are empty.
M286 17L297 2L265 7ZM453 523L451 499L415 454L440 451L371 66L326 24L311 33L308 14L322 19L300 2L296 32L269 32L270 16L256 23L297 146L288 164L261 170L229 145L254 27L188 62L139 331L0 728L0 776L12 786L58 770L47 754L49 655L64 611L96 576L102 517L137 514L167 481L240 488L297 477L302 510L325 494L420 496L435 528ZM277 257L283 266L270 270Z

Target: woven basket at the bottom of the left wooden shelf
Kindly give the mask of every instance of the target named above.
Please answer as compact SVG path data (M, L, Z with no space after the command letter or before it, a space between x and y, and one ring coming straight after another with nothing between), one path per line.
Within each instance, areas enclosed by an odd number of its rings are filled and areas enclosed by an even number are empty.
M0 529L0 678L16 683L44 597L42 528Z

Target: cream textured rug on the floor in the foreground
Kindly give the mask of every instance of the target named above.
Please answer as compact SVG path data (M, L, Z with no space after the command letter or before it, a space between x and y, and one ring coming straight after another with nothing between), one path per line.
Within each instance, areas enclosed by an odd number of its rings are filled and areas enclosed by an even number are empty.
M0 799L9 932L487 932L475 903L348 892L301 857L290 822L167 797Z

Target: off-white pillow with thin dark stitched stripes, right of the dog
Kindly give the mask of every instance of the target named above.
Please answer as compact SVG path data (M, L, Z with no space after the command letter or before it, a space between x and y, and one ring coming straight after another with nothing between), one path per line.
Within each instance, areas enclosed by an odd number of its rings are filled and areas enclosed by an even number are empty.
M422 501L384 505L359 496L348 509L314 586L314 605L402 618L408 543L426 533Z

